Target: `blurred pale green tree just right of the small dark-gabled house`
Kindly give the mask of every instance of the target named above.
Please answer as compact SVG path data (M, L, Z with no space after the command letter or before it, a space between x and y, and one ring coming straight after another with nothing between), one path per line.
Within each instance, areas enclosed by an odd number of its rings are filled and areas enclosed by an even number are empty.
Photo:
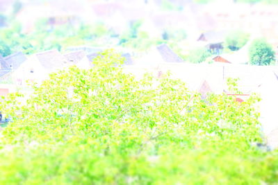
M227 35L224 45L231 51L237 51L246 44L249 37L249 34L244 33L241 30L234 30Z

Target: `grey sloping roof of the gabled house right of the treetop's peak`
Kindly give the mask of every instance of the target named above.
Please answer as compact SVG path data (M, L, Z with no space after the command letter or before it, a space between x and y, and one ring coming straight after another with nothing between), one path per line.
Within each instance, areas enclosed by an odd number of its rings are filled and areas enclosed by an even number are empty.
M165 62L183 62L179 56L170 49L167 44L161 44L156 47Z

